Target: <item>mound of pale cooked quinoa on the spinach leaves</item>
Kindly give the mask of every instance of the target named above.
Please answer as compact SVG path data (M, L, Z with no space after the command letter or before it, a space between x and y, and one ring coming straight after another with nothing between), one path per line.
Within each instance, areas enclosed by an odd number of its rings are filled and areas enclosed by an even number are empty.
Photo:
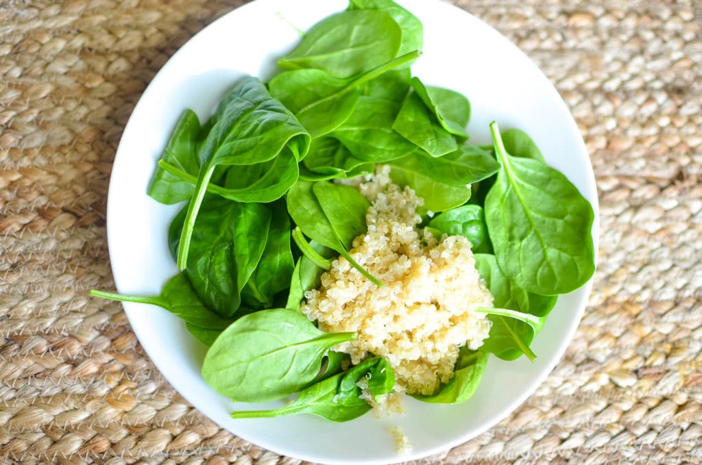
M493 306L463 236L440 241L418 229L423 200L392 184L387 167L357 185L369 199L368 231L350 255L384 283L378 287L347 260L334 260L322 285L305 293L301 309L319 329L356 331L336 350L354 364L373 354L388 359L396 389L430 395L453 377L458 348L477 349L490 322L478 307Z

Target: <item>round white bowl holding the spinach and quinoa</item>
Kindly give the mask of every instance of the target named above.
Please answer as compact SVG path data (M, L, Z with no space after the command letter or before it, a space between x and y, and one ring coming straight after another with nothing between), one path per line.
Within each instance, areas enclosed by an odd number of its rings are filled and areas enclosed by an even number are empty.
M422 20L423 56L413 72L423 81L470 98L472 142L489 142L489 122L520 128L534 138L548 163L562 170L599 217L592 166L578 128L548 79L505 37L465 11L439 0L399 0ZM119 292L158 295L176 274L166 231L179 206L157 203L147 184L178 116L194 109L205 119L237 77L268 79L276 59L300 36L294 25L314 22L346 7L345 0L257 0L203 29L154 77L124 130L112 168L107 234ZM276 419L230 418L234 404L200 375L205 348L178 318L156 307L124 304L139 341L154 365L192 405L235 435L298 459L329 464L381 464L442 452L477 436L506 417L534 392L561 358L592 283L559 298L536 337L538 358L505 362L491 356L475 396L462 405L432 405L406 398L406 415L372 414L336 424L308 415ZM272 404L275 405L275 404ZM239 408L242 406L239 405ZM388 433L400 426L413 446L400 457Z

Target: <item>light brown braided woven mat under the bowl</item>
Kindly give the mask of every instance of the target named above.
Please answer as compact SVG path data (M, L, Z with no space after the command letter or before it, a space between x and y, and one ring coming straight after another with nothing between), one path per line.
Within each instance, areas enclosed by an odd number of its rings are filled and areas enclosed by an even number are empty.
M205 419L121 306L86 297L113 286L105 197L131 109L241 3L0 1L0 461L298 463ZM600 189L600 267L534 396L422 463L701 463L702 4L458 4L525 50L574 113Z

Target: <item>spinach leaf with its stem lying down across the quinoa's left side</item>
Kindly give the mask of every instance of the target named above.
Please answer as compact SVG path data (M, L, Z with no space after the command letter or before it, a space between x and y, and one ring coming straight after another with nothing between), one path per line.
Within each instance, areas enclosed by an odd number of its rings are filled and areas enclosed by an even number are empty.
M371 282L383 285L348 253L354 238L366 231L370 204L359 191L343 184L299 180L286 202L293 222L305 236L336 250Z

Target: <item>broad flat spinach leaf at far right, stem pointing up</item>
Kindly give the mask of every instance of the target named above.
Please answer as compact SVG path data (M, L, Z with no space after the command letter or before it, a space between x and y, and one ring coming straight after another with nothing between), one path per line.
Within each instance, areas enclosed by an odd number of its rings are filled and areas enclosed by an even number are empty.
M559 171L508 154L496 123L490 130L502 170L485 213L500 268L537 294L576 290L595 272L592 205Z

